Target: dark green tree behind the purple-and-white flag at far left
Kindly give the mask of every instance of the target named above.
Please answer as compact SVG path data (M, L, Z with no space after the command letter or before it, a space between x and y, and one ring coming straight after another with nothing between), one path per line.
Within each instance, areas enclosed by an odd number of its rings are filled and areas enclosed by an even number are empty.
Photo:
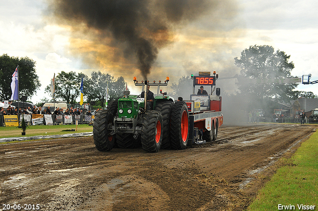
M0 100L9 100L12 94L11 81L15 68L19 66L19 97L31 98L41 86L36 74L35 62L28 57L19 59L3 54L0 57Z

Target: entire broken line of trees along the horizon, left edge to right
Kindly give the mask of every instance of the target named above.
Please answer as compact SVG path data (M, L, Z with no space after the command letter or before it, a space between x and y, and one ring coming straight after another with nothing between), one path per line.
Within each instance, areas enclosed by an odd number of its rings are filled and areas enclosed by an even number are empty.
M289 62L290 56L285 52L275 51L272 46L250 46L241 52L240 58L234 58L235 65L240 69L239 77L243 78L288 78L294 77L291 71L294 63ZM27 57L9 57L3 54L0 57L0 100L7 100L11 96L11 75L16 66L19 66L19 93L32 96L40 87L39 77L36 74L35 62ZM74 71L58 73L55 77L56 100L63 100L67 103L75 104L80 96L79 84L83 78L84 101L97 102L96 105L103 107L106 101L107 82L108 100L117 100L122 96L122 91L126 88L125 80L122 76L117 79L108 73L92 71L91 77L84 73ZM182 96L184 91L192 93L192 80L190 76L182 76L177 83L171 84L170 94ZM274 101L290 102L301 96L306 98L318 98L313 92L293 91L298 86L297 83L288 84L240 84L235 94L241 99L253 99L253 106L261 105L264 99ZM50 84L45 88L52 97ZM44 102L49 101L43 98ZM257 105L258 104L258 105Z

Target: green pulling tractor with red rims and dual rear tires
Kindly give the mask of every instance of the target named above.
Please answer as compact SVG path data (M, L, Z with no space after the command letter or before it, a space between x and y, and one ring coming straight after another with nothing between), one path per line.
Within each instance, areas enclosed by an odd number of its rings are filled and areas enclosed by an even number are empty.
M152 103L147 102L147 94L130 95L124 91L124 97L110 102L106 110L95 114L93 124L94 143L98 150L109 151L113 147L142 148L148 152L158 152L160 148L185 149L189 135L189 113L183 101L174 102L161 86L164 83L142 81L147 93L147 85L157 86L157 96ZM146 89L146 90L145 90Z

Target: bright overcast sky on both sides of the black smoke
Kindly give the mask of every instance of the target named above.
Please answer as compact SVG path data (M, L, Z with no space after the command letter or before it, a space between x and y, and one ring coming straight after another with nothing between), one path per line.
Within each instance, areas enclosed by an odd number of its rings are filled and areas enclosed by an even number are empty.
M220 78L234 76L239 73L234 58L252 45L270 45L275 51L284 51L295 65L292 75L311 73L311 80L318 80L316 0L214 2L219 3L209 12L174 28L172 42L159 48L149 80L170 76L170 82L177 82L183 75L202 70L216 70ZM89 77L92 70L110 73L115 78L122 75L134 90L133 76L143 79L135 64L121 59L114 63L107 55L94 58L92 63L89 56L97 54L88 53L99 51L100 54L105 48L86 37L94 32L81 35L81 30L52 21L54 18L48 15L47 7L44 0L0 0L0 55L29 57L36 62L42 86L32 97L33 103L40 102L43 96L50 98L44 88L50 84L53 74L62 70L83 72ZM105 54L109 54L109 48L106 49ZM237 88L234 80L219 80L218 86L226 92ZM297 90L318 95L318 84L300 84Z

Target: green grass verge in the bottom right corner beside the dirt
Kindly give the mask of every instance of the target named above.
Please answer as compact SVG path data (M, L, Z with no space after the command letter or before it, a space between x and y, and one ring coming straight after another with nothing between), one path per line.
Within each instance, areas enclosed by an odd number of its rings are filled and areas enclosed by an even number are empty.
M298 207L301 205L318 210L318 132L282 162L284 166L260 190L247 211L302 210Z

